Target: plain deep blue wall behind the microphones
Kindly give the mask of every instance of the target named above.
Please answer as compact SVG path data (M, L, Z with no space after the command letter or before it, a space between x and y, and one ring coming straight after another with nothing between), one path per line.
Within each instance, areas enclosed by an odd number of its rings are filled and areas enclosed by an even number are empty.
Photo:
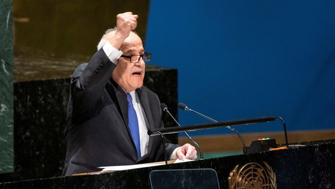
M335 1L151 1L145 49L150 64L178 68L179 102L218 121L273 115L288 130L335 129L334 10ZM208 123L182 110L179 121Z

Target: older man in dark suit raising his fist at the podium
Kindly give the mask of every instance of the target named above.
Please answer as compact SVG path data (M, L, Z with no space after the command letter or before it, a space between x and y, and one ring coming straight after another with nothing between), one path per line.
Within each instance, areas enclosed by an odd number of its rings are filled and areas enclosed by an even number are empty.
M117 15L88 64L79 65L70 85L63 175L99 171L97 167L164 160L196 159L190 144L161 142L147 130L163 127L159 99L143 86L145 62L141 39L131 30L138 15Z

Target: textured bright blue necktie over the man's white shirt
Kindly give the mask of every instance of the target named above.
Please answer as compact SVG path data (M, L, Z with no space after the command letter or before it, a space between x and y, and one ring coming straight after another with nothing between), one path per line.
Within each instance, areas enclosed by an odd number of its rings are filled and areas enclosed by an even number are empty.
M130 129L131 136L133 137L136 150L137 158L141 158L141 143L140 143L140 132L138 130L137 114L133 106L131 95L127 92L128 101L128 127Z

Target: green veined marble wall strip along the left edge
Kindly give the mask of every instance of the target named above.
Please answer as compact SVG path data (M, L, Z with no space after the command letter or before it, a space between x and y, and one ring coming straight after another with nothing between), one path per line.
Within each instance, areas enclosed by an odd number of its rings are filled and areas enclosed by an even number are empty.
M13 172L12 0L0 0L0 173Z

